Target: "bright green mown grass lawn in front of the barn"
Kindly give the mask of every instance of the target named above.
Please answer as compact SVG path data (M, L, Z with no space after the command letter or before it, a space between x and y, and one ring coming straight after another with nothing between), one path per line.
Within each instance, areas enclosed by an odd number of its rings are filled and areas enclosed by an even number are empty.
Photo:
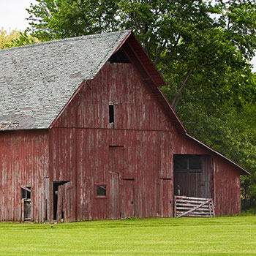
M0 255L256 255L256 217L0 223Z

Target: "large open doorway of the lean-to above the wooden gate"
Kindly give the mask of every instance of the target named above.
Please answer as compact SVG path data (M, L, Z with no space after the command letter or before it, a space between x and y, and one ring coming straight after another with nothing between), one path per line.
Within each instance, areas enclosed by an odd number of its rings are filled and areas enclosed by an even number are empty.
M175 154L174 195L213 197L213 165L211 156Z

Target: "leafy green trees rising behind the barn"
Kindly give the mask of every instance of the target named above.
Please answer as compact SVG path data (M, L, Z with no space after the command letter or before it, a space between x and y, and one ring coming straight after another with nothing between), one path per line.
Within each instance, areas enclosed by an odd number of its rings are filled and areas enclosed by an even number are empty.
M255 1L37 0L27 11L42 41L132 29L188 132L252 171L242 195L256 205Z

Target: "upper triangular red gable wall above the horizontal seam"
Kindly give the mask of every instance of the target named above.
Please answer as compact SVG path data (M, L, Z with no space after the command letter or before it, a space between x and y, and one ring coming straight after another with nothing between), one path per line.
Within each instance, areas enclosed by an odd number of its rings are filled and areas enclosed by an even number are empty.
M55 127L108 129L110 102L114 105L115 129L173 131L138 70L132 64L110 62L94 80L86 82Z

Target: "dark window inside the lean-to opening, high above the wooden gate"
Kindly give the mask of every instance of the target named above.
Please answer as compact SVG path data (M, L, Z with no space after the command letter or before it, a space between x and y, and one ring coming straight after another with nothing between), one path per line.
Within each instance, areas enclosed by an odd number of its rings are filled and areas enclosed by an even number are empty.
M174 155L174 170L179 173L201 173L201 157L198 155Z

